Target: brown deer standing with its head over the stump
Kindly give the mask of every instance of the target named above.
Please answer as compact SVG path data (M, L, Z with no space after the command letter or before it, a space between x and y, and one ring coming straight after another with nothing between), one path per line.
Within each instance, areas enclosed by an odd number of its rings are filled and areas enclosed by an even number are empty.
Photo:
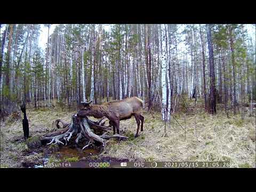
M134 137L137 138L139 136L140 123L140 131L143 131L144 117L141 115L141 109L145 103L138 97L109 101L102 103L102 105L91 105L92 101L81 103L83 108L77 113L78 119L85 116L93 116L94 118L107 117L109 125L113 126L113 133L115 134L117 131L117 134L119 134L119 122L134 116L138 126Z

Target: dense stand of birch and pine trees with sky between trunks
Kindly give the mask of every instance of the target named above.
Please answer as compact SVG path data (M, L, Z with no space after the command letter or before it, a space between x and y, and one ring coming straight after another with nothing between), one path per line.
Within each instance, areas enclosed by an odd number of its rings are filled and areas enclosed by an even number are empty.
M137 96L166 117L191 97L236 114L255 99L255 25L1 25L0 80L1 111Z

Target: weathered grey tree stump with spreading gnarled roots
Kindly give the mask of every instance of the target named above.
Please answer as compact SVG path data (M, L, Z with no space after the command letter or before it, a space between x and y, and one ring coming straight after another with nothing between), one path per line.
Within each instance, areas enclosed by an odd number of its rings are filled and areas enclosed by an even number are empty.
M57 119L57 121L58 123L61 122L60 119ZM99 121L99 124L98 124L98 122L93 122L87 117L78 121L78 119L76 118L76 115L74 115L71 119L71 123L68 124L65 122L61 122L63 127L67 126L66 128L54 133L46 134L45 137L43 137L41 140L51 140L46 145L55 145L55 144L67 145L71 137L73 137L73 135L77 135L76 143L78 143L79 140L81 140L82 138L85 138L86 140L89 141L87 145L83 147L83 149L85 149L90 145L92 145L94 141L100 142L104 147L106 145L106 139L110 139L110 138L127 139L127 137L118 135L118 134L106 135L106 131L108 131L110 127L100 125L101 121L102 119ZM56 123L56 126L58 125L58 123ZM90 127L92 127L93 130L105 131L105 133L103 133L102 135L97 135L92 132ZM65 144L61 140L65 140Z

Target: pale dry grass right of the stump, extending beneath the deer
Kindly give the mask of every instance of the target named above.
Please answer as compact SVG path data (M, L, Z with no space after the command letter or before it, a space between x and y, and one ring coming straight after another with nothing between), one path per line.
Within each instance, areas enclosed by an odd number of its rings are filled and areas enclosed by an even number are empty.
M121 129L130 139L125 142L111 141L106 154L130 161L229 161L231 167L255 167L255 116L227 118L223 113L216 116L197 111L195 115L175 115L164 123L159 114L154 118L145 114L145 129L138 139L133 139L137 124L134 119L121 122ZM196 124L195 124L196 122ZM132 133L132 134L131 134Z

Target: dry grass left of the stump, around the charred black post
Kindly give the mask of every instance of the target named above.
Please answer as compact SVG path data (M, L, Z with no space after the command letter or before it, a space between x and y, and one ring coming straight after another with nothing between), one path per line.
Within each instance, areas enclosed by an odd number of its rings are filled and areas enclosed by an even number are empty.
M36 135L55 131L57 129L55 126L56 119L61 118L69 122L75 113L76 111L68 112L58 107L38 110L27 109L29 135L33 136L31 139L35 138ZM19 138L23 138L22 119L13 121L9 118L4 123L1 122L1 167L20 167L21 161L27 159L23 152L29 149L30 143L15 142Z

